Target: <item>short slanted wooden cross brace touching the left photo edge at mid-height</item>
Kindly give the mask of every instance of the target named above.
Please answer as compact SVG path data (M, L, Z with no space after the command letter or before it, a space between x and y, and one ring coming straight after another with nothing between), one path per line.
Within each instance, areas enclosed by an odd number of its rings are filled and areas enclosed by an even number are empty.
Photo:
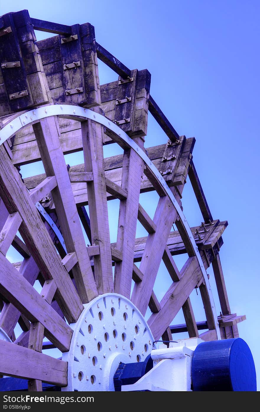
M8 216L0 232L0 252L2 252L3 255L7 254L7 250L11 246L14 236L18 232L21 222L22 218L18 212L11 213Z

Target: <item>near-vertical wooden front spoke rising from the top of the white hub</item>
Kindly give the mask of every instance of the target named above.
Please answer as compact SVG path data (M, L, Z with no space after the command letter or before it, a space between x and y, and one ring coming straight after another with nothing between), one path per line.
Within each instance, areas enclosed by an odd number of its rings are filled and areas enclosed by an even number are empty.
M108 206L103 155L103 126L88 120L81 124L85 171L93 173L87 182L92 244L99 246L94 256L94 274L99 294L113 292L113 272L108 226Z

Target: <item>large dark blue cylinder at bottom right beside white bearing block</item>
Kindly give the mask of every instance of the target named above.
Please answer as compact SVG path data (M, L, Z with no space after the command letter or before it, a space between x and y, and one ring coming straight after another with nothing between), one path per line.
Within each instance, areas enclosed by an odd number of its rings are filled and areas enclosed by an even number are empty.
M200 343L191 378L193 391L256 391L253 356L241 338Z

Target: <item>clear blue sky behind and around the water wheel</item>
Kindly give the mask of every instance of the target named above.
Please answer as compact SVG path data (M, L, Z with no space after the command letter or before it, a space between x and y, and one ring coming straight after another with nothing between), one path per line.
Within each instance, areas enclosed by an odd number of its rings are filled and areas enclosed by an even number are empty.
M177 132L196 137L193 160L212 215L229 222L220 256L230 306L232 312L246 314L239 333L260 375L260 2L0 1L0 15L21 8L38 19L92 23L97 42L127 67L150 71L151 94ZM117 78L103 64L99 72L101 83ZM149 118L146 146L165 142ZM183 206L190 226L200 224L189 185ZM214 289L212 276L211 283ZM197 310L198 320L204 320L195 303ZM175 323L181 322L179 315Z

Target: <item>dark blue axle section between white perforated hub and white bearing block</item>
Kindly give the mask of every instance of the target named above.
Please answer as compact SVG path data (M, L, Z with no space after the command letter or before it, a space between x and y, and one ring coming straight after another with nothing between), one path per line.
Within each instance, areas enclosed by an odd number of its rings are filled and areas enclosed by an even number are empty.
M115 392L121 391L122 385L134 384L153 367L151 355L144 362L123 363L121 362L114 375Z

